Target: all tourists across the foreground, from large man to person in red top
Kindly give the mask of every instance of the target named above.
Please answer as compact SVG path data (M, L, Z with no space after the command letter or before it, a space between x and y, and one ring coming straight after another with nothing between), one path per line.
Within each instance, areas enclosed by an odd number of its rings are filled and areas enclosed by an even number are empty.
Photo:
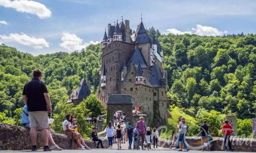
M21 124L30 129L30 139L32 142L32 151L36 151L37 145L37 131L41 131L42 143L44 151L62 150L53 140L52 134L54 130L51 129L51 124L54 119L50 118L52 112L50 96L44 82L41 81L42 72L39 69L33 71L32 80L28 81L23 89L24 108L22 110ZM177 130L172 131L172 142L170 148L178 151L188 151L186 145L186 131L188 125L183 117L178 118L179 124ZM224 134L224 147L225 150L232 151L230 143L230 135L233 132L232 126L228 124L228 120L224 121L222 132ZM63 122L63 131L70 139L76 142L77 148L81 150L90 149L86 145L84 138L78 131L77 120L72 114L66 114L66 119ZM121 149L121 143L128 141L128 149L151 149L158 147L159 133L156 128L152 131L150 127L146 127L144 118L141 116L136 126L133 127L131 122L126 122L126 116L119 112L114 115L114 125L108 122L105 129L106 137L108 137L109 149L112 149L113 143L117 143L118 149ZM207 121L204 120L200 126L200 135L202 139L202 151L210 151L210 132ZM102 139L98 137L96 127L91 133L92 140L98 144L96 148L104 148ZM50 144L50 147L49 147Z

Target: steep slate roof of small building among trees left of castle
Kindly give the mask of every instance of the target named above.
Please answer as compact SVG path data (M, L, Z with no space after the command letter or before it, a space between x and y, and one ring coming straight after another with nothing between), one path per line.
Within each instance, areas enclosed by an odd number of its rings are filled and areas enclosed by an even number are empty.
M73 99L85 99L87 96L90 95L90 93L90 88L88 87L86 80L82 78L79 84L79 88L72 91L67 103L72 102Z

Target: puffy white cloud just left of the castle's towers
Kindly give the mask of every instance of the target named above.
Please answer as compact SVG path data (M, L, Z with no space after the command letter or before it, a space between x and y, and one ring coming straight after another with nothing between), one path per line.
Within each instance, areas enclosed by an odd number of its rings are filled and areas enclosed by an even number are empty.
M69 51L80 51L83 48L86 48L90 44L100 43L99 41L90 41L89 43L83 43L83 39L77 37L75 34L68 32L62 33L61 37L62 43L60 47L68 49Z

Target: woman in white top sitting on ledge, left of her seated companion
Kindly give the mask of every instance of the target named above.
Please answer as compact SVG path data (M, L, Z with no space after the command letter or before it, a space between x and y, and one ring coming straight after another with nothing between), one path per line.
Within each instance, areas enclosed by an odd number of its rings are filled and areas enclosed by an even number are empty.
M84 147L82 147L80 141L78 140L78 137L75 134L75 129L71 127L72 125L69 122L70 120L71 120L71 114L66 114L66 120L64 120L63 127L62 127L64 134L76 142L76 145L79 150L85 150Z

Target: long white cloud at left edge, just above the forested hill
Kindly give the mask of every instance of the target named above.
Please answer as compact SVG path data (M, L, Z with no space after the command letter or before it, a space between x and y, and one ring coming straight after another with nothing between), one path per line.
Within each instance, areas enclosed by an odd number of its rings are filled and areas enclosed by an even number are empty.
M42 49L44 47L49 47L49 44L44 38L35 38L26 35L25 33L10 33L10 35L0 35L0 41L4 42L14 42L21 45L29 46L34 49Z

